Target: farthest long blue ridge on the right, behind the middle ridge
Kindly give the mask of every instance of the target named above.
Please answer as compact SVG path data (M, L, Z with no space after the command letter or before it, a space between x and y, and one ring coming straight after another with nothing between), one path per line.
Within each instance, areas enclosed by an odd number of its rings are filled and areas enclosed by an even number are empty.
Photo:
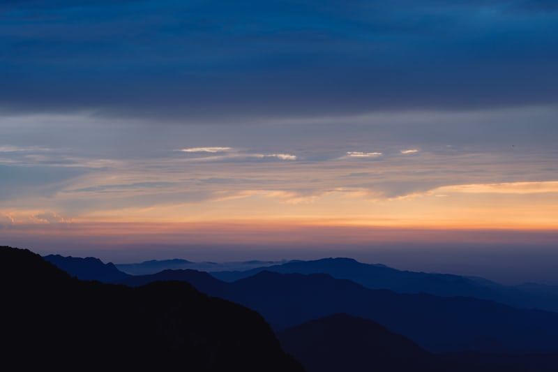
M349 279L370 289L428 293L445 297L476 297L515 307L558 311L558 290L555 287L532 284L506 286L483 278L401 271L384 265L364 264L351 258L290 261L282 265L259 267L248 271L212 272L211 275L223 281L236 281L261 271L282 274L329 274L334 278Z

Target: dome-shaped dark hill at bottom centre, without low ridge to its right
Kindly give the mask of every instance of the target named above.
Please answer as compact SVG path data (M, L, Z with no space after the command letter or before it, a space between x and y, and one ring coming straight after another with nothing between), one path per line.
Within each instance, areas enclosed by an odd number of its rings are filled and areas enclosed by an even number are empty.
M435 355L408 338L347 314L285 329L278 338L308 372L446 371Z

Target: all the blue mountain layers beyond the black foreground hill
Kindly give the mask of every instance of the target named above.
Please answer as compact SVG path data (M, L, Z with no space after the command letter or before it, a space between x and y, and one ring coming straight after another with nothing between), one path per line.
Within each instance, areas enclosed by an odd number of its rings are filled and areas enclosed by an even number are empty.
M114 265L100 260L56 259L73 276L84 277L83 267L89 269L88 279L106 280L107 268L115 274ZM251 308L264 316L283 348L308 371L335 371L341 365L343 371L352 372L550 372L558 364L558 313L478 298L495 296L490 292L495 288L552 297L555 288L550 285L508 288L482 278L399 271L346 258L291 261L268 269L211 273L166 269L137 276L119 271L113 282L134 288L188 282L206 295ZM407 360L412 360L412 369Z

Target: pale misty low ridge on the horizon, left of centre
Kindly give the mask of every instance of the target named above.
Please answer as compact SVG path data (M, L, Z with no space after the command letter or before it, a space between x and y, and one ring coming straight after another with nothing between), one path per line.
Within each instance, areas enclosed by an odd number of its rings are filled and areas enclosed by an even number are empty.
M278 265L276 261L244 261L244 262L192 262L174 258L172 260L150 260L133 264L118 264L116 267L132 275L156 274L167 269L193 269L199 271L248 270L257 267Z

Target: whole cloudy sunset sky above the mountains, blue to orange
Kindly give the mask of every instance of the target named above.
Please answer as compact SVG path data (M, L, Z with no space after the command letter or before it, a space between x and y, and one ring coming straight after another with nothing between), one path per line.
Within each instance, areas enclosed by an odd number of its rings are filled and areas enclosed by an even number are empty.
M550 0L2 1L1 243L558 284L557 36Z

